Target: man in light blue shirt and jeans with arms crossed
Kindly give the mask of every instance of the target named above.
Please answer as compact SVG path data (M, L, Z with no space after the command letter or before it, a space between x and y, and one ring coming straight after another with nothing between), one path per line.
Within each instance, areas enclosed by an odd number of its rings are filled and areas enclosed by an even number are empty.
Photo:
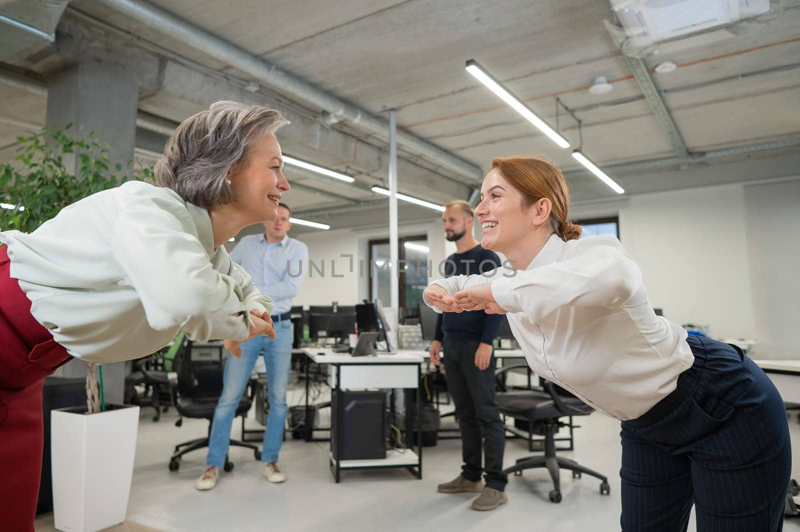
M278 469L278 452L283 442L286 423L286 386L289 384L289 369L292 359L292 327L290 310L292 298L297 295L308 268L308 247L289 238L286 233L292 227L289 222L291 210L284 204L278 206L278 218L264 222L264 234L253 234L242 238L230 252L230 258L242 266L262 294L274 300L272 321L275 339L256 336L242 342L242 357L229 356L225 364L222 395L214 410L209 436L208 467L198 478L198 490L210 490L217 484L219 470L225 463L230 444L230 426L234 421L236 407L250 380L258 355L264 355L266 378L269 385L270 413L267 415L262 460L263 475L270 482L284 482L286 474Z

